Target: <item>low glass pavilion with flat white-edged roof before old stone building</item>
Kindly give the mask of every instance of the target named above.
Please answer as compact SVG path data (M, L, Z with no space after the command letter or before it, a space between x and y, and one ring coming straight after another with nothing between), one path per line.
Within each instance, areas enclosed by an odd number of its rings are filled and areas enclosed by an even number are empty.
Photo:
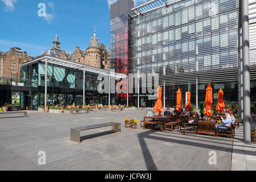
M26 101L30 110L37 110L45 101L47 105L64 106L110 103L109 93L98 92L98 75L110 77L110 72L104 69L46 55L22 64L20 74L20 80L30 80Z

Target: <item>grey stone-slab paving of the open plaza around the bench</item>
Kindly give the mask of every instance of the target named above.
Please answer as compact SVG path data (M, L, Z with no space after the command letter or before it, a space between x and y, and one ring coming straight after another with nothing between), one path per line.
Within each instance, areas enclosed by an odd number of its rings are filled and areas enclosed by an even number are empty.
M256 144L243 144L242 127L234 141L183 135L177 129L139 128L143 115L144 110L135 109L1 118L0 170L255 170ZM126 117L137 118L138 129L125 128ZM105 122L120 122L121 133L106 127L82 131L81 143L69 140L71 127ZM39 151L46 152L46 165L38 164ZM210 151L216 152L217 164L209 164Z

